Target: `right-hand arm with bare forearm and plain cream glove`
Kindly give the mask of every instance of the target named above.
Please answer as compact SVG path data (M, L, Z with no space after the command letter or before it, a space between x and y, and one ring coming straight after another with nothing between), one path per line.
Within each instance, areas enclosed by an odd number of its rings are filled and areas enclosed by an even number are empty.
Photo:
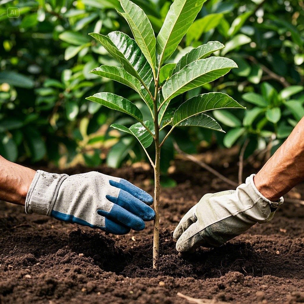
M181 219L173 233L180 252L216 247L255 223L272 219L282 195L304 180L304 118L257 175L237 190L206 194Z

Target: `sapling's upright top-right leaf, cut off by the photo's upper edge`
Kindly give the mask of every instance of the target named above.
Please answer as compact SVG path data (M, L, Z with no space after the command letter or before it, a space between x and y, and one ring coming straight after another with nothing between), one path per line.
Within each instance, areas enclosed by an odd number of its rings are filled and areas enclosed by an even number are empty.
M156 39L161 66L176 50L206 0L175 0Z

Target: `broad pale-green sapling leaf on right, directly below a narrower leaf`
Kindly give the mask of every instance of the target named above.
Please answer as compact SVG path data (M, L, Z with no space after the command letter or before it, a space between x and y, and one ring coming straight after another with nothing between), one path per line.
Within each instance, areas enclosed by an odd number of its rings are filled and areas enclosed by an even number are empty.
M237 64L228 58L209 57L188 64L171 76L162 88L165 101L228 73Z

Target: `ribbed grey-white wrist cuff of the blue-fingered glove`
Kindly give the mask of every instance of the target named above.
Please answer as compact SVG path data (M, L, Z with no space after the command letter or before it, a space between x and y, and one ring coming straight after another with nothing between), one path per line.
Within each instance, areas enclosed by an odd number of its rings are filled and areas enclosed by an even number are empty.
M25 212L50 216L60 185L67 177L67 174L37 170L26 195Z

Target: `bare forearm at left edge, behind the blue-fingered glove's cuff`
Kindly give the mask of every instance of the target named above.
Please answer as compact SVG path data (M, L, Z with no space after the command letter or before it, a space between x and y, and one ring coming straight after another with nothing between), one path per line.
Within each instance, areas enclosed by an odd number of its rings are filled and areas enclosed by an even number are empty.
M0 200L24 206L35 173L0 156Z

